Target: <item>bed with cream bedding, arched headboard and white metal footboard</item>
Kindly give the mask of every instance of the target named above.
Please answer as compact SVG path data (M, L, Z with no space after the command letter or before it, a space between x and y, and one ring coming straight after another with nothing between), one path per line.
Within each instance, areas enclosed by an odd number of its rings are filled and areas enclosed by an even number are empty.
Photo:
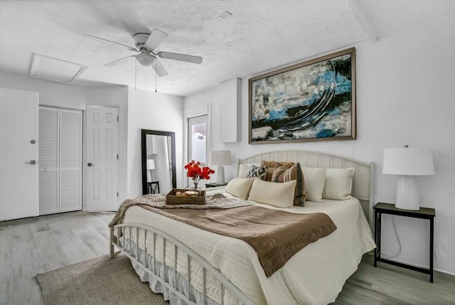
M324 213L336 225L331 234L296 252L283 267L267 276L257 252L237 238L194 228L166 215L132 205L111 227L110 256L114 247L127 255L143 282L171 304L328 304L357 269L375 243L370 226L373 215L373 163L314 151L272 151L239 161L299 163L307 168L354 168L352 198L306 201L304 207L269 210L294 214ZM225 188L210 188L208 196ZM349 196L350 197L350 196ZM235 199L235 198L234 198ZM235 209L234 209L235 210Z

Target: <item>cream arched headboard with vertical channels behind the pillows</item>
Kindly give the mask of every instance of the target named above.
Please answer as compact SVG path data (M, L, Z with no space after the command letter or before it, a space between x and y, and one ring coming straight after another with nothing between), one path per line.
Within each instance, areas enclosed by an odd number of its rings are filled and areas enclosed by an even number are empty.
M373 224L373 162L363 162L349 159L344 156L336 156L318 151L271 151L263 154L240 159L240 164L260 163L267 161L294 162L306 167L323 168L355 168L353 176L352 196L358 198L363 211L370 223Z

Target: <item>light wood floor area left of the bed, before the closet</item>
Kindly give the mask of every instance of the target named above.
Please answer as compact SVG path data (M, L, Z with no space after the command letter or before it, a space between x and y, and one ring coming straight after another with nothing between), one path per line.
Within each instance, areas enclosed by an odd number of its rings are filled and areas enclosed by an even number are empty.
M35 275L108 254L113 216L79 211L0 223L0 304L44 304Z

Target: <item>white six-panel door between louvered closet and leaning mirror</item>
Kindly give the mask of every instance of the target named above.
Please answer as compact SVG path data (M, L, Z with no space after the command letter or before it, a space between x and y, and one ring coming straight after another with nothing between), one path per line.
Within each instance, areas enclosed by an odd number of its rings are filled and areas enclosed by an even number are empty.
M87 107L87 210L118 208L118 109Z

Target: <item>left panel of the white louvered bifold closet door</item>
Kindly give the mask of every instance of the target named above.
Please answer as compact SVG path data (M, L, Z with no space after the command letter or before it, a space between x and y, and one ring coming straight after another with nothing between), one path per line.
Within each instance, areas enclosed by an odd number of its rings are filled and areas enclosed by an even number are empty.
M40 215L58 213L59 109L39 107L38 161Z

